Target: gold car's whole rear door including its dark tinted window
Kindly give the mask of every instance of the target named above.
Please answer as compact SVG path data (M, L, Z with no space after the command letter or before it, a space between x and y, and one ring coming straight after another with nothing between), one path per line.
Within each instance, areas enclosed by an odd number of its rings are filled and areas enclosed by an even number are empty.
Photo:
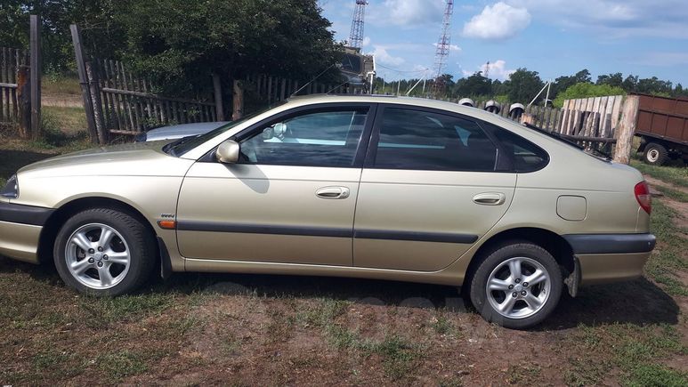
M434 271L454 262L506 213L515 173L470 117L381 105L360 180L358 267Z

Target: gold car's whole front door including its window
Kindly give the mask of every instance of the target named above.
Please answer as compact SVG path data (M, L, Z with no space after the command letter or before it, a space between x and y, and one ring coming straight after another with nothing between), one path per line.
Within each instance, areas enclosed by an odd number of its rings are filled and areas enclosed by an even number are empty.
M182 256L351 266L369 109L287 112L239 133L239 163L194 164L177 208Z

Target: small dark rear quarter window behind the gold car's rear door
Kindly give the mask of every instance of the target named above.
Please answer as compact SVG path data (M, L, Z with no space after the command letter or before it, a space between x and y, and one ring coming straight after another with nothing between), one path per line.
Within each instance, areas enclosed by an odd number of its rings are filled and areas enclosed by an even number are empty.
M491 126L502 148L506 151L506 157L512 159L515 172L538 171L549 162L547 152L537 145L498 126Z

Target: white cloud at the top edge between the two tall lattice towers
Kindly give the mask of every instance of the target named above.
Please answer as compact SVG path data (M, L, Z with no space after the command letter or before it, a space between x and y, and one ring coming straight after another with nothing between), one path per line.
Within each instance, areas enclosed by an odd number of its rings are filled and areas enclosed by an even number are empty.
M439 24L444 6L444 0L384 0L383 4L368 5L366 18L369 15L374 22L417 28L425 24Z

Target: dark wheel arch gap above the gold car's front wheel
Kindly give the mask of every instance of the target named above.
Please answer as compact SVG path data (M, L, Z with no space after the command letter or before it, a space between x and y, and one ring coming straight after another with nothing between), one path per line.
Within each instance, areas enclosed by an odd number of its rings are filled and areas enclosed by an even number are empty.
M43 226L43 230L41 230L37 250L38 262L41 265L53 264L53 245L61 225L69 219L70 216L89 208L109 208L130 214L146 226L150 231L150 235L158 237L153 225L150 224L142 212L123 200L108 197L73 198L59 206L53 214L50 215Z

